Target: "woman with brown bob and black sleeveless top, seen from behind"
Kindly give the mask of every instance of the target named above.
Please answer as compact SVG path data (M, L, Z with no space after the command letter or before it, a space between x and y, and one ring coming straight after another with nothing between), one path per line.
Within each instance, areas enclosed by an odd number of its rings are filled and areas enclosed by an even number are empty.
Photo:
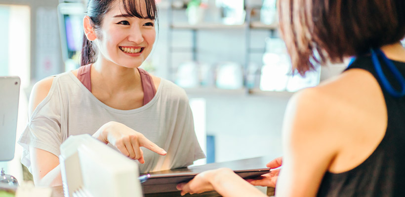
M253 185L276 196L405 196L404 0L279 0L280 31L299 73L351 62L296 93L283 122L283 158ZM347 60L347 61L346 61ZM181 194L265 196L232 170L203 172Z

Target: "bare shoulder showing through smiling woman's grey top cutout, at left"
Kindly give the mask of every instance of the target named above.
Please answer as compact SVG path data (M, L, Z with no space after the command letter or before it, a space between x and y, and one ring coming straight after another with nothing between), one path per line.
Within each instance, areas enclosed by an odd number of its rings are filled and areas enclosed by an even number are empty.
M29 116L32 115L38 104L49 94L54 78L55 77L47 77L34 85L30 95Z

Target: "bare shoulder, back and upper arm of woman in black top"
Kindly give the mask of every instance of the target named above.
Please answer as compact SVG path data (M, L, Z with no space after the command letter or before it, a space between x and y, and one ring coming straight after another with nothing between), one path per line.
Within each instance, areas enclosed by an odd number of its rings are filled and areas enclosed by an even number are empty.
M404 65L404 48L384 52ZM315 196L325 173L340 174L363 164L385 138L385 99L375 75L360 68L294 95L284 118L285 153L276 194Z

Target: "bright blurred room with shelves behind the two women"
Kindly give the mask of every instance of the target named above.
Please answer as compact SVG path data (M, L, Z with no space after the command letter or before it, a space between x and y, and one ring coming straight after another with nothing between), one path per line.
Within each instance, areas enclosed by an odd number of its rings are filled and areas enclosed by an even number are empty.
M87 0L0 0L0 76L21 78L17 140L32 86L79 67ZM281 127L291 95L344 65L291 73L278 33L276 0L156 0L154 49L141 66L183 87L207 155L197 164L282 155ZM3 131L2 131L3 132ZM15 158L0 167L22 180Z

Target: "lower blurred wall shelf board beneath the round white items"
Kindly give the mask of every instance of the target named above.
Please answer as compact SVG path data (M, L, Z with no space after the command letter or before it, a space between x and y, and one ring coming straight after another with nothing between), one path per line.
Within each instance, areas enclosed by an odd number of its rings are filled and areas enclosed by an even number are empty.
M184 89L187 95L190 96L265 96L265 97L279 97L279 98L290 98L294 93L287 91L262 91L258 88L254 89L237 89L237 90L228 90L228 89L219 89L219 88L185 88Z

